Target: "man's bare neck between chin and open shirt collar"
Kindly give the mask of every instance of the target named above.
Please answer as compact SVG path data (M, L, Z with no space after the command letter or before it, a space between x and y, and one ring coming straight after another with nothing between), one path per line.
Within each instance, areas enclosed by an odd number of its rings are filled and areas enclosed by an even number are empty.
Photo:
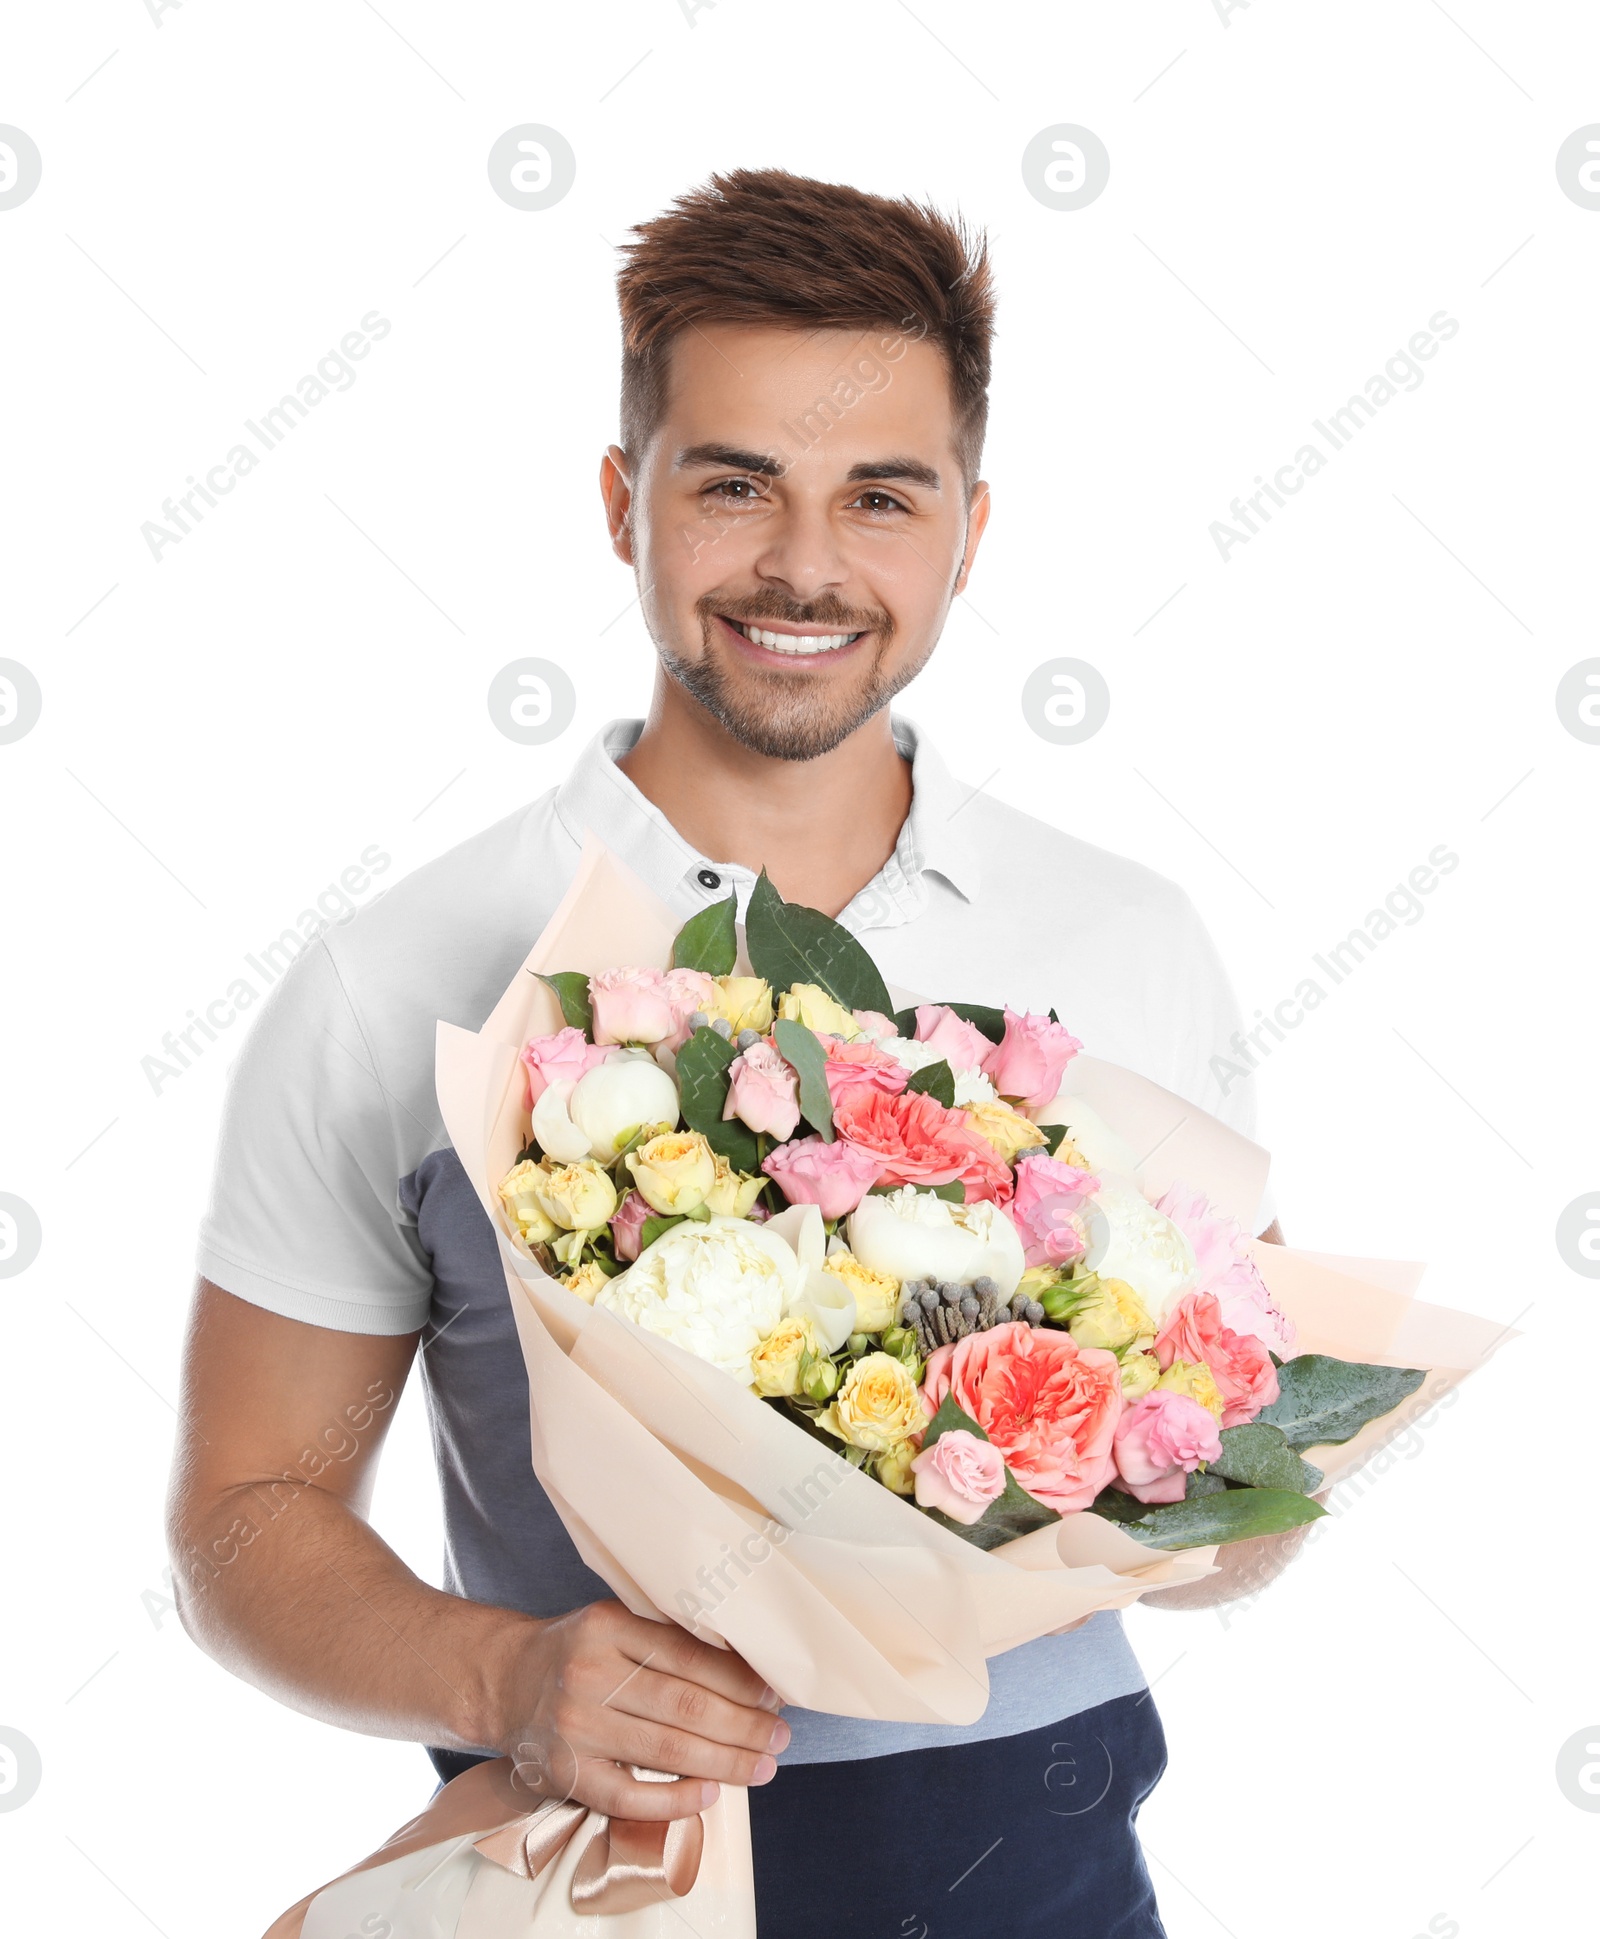
M619 766L702 855L766 869L780 896L826 915L882 869L912 807L888 708L816 760L772 760L659 669L650 719Z

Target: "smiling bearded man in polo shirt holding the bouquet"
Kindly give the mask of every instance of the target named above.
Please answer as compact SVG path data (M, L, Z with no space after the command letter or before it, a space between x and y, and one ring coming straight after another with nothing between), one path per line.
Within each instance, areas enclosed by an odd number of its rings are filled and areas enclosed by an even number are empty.
M824 1906L882 1939L1160 1933L1133 1815L1166 1749L1115 1615L997 1658L972 1728L780 1716L739 1658L611 1602L529 1468L432 1041L493 1008L586 832L683 917L729 886L743 904L766 867L890 981L1055 1004L1098 1057L1249 1130L1245 1092L1206 1074L1237 1014L1181 892L954 781L888 714L989 520L981 244L906 202L739 173L636 231L619 287L601 493L659 653L650 717L324 937L240 1055L173 1487L184 1623L285 1702L431 1745L446 1776L510 1751L634 1819L751 1786L762 1939ZM419 1353L448 1592L365 1520Z

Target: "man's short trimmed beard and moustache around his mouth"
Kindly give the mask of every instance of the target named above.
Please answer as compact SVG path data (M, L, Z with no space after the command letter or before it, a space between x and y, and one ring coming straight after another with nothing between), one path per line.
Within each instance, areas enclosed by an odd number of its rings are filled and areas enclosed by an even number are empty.
M661 665L679 686L698 700L741 747L766 760L816 760L830 754L857 727L880 714L921 673L933 652L929 646L927 653L913 665L902 665L890 673L884 669L884 657L894 638L894 620L888 613L851 611L830 599L803 607L772 595L737 601L737 605L743 611L733 613L723 601L700 599L696 603L704 640L700 659L683 659L659 640L657 652ZM739 683L727 679L712 650L712 626L720 617L751 624L776 619L791 626L815 626L818 632L871 630L877 636L875 657L861 688L855 694L840 696L842 710L838 714L824 714L801 683L791 681L776 667L751 667ZM741 692L739 688L749 690Z

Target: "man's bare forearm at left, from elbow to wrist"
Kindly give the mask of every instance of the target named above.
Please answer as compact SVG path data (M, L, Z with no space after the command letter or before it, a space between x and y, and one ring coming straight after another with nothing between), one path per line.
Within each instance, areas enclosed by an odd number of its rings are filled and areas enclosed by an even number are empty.
M326 1489L235 1489L175 1512L184 1629L281 1702L372 1737L498 1749L510 1664L539 1625L421 1582Z

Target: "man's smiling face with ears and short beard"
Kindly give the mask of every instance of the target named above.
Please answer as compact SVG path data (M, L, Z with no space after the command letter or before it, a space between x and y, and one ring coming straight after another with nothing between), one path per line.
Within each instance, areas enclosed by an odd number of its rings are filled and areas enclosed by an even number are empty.
M667 673L745 747L811 760L921 669L989 510L943 351L894 330L706 324L673 343L613 545Z

